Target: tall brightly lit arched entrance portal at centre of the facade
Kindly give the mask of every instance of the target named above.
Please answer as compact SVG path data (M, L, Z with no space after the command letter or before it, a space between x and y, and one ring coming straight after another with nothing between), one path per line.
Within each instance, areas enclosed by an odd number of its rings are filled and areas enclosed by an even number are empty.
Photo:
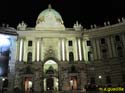
M53 60L48 60L43 66L44 91L58 91L58 64Z

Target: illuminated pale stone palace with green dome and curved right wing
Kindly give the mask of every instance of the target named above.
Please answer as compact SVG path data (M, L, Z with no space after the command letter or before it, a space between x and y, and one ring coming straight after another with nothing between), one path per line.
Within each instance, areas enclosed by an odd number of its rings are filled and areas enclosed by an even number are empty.
M91 29L76 22L73 28L65 28L61 15L49 6L35 27L19 23L12 86L25 91L68 91L88 83L124 84L125 20L118 22Z

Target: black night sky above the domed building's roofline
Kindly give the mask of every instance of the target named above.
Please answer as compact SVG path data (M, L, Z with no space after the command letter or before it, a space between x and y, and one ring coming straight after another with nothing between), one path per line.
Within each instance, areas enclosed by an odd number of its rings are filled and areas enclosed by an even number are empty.
M72 27L76 20L84 27L102 25L107 20L115 23L125 12L121 0L0 0L0 24L16 27L24 20L34 27L39 13L48 4L61 14L66 27Z

